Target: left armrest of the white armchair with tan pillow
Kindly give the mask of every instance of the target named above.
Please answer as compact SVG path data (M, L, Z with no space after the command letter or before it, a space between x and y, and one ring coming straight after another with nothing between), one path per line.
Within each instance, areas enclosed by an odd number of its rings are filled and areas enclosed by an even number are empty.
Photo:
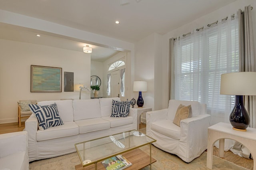
M168 109L150 111L146 113L146 134L150 136L151 123L167 119Z

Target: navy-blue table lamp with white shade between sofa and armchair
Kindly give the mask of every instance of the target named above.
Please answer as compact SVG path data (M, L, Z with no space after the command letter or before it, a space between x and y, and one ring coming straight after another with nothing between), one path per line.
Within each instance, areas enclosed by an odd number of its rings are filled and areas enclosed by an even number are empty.
M147 82L146 81L134 81L133 82L133 91L139 92L139 97L137 99L138 107L143 107L144 101L142 98L142 91L147 91Z

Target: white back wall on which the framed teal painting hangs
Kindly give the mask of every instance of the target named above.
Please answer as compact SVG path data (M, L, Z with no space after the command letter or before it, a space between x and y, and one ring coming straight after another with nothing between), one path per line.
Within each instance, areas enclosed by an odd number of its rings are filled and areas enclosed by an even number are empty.
M62 92L30 92L30 65L62 68ZM18 121L17 101L79 99L64 91L64 71L74 72L74 84L90 87L90 54L32 43L0 39L0 123ZM81 99L90 99L82 92Z

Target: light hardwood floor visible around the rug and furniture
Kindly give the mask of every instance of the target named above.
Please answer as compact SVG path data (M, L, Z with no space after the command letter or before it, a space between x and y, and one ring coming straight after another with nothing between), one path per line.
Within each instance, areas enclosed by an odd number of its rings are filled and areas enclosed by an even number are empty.
M140 128L144 128L144 127L146 127L145 124L140 124ZM24 128L25 128L25 122L21 123L21 127L19 127L18 123L0 124L0 134L18 132L18 131L22 131ZM218 151L219 151L218 148L214 146L213 154L215 156L218 156ZM228 152L224 152L224 158L222 159L227 160L229 162L233 162L234 164L237 164L244 168L253 170L252 159L246 159L246 158L240 157L236 154L233 154L230 150Z

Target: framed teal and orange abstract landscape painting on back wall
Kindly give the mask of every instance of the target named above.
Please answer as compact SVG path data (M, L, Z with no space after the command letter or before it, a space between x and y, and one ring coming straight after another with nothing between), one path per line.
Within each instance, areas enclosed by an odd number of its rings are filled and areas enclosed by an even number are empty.
M62 68L31 65L30 92L61 92Z

